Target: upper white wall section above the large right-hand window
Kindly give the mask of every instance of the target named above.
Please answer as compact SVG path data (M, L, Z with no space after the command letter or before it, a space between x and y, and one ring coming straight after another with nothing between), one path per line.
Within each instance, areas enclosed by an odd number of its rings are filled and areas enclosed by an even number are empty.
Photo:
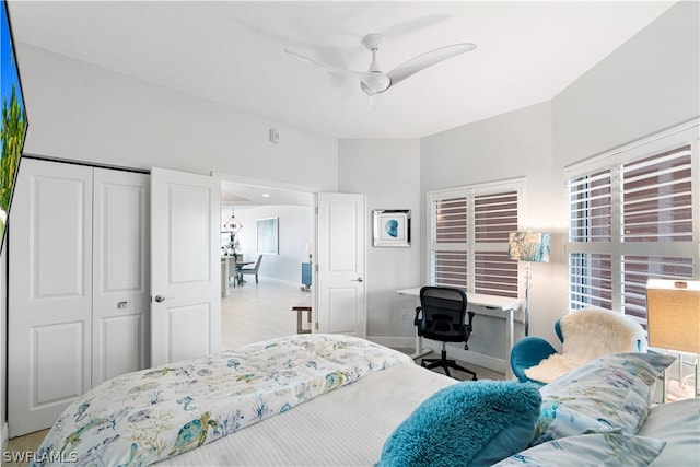
M699 115L699 22L678 2L555 97L556 172Z

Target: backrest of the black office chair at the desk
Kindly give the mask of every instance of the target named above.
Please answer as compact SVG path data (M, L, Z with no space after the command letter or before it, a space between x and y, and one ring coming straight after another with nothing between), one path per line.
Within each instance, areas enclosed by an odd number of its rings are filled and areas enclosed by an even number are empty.
M474 312L465 323L467 294L462 289L427 285L420 290L422 317L418 334L443 342L466 342L471 334Z

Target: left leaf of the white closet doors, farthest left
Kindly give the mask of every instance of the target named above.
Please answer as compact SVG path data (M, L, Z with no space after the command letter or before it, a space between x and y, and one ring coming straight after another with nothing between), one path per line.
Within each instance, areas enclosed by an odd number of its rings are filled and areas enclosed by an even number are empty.
M9 237L10 437L90 388L92 168L24 159Z

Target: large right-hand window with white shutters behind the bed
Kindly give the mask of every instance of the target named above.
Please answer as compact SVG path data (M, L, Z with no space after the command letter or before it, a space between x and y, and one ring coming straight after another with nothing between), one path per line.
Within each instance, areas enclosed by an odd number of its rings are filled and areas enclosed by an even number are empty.
M569 308L646 322L648 279L699 265L697 124L567 171Z

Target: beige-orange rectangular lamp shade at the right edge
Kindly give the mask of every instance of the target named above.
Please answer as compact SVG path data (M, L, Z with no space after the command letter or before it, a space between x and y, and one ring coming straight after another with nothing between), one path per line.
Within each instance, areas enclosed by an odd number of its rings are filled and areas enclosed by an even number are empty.
M700 353L700 281L646 282L649 345Z

